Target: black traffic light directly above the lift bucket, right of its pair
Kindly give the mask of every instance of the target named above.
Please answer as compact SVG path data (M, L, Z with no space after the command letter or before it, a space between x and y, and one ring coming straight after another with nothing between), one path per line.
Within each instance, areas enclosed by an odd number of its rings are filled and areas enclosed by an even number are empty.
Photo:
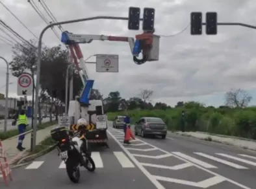
M143 24L144 31L153 31L155 22L155 8L144 8L143 11Z

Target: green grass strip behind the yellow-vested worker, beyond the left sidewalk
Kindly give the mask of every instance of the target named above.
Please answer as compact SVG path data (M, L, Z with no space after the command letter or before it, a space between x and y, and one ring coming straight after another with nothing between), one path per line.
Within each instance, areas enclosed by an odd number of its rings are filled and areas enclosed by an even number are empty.
M58 122L57 121L53 121L53 122L45 122L43 124L40 124L38 125L38 130L41 130L41 129L45 129L49 126L53 126L54 124L57 124ZM16 126L17 129L12 129L10 131L2 131L0 132L0 140L5 140L5 139L8 139L10 137L14 137L16 135L19 135L19 131L18 131L18 126ZM29 131L31 130L31 127L27 127L26 128L26 131Z

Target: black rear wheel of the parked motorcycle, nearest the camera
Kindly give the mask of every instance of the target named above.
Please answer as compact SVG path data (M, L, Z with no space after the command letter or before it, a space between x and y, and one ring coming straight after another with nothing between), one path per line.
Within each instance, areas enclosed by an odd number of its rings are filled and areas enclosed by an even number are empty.
M78 183L80 179L80 170L77 163L72 161L71 159L67 159L66 161L66 171L68 173L68 177L73 183Z

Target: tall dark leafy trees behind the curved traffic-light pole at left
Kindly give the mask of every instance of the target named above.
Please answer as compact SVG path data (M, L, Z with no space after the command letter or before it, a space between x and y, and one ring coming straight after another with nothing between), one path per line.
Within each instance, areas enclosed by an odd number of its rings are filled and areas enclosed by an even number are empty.
M37 45L36 41L29 43L17 43L13 47L13 57L10 61L12 75L18 77L22 72L29 72L36 76ZM43 47L42 64L40 72L40 102L38 104L38 116L41 124L41 109L43 104L49 104L50 120L52 120L53 107L55 107L55 120L62 113L65 101L66 70L70 64L68 50L56 47ZM70 72L72 69L69 69ZM79 95L83 83L79 75L73 70L73 95ZM70 74L71 75L71 74ZM35 86L35 84L34 84ZM73 97L74 97L73 96Z

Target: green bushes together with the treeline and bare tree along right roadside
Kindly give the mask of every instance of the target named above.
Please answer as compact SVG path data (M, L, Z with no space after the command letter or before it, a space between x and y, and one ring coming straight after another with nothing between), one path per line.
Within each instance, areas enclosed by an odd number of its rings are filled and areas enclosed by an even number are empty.
M111 96L113 95L110 94L109 98ZM120 104L123 103L120 97L114 99L119 99ZM256 139L256 107L247 107L250 100L251 96L242 89L228 91L225 94L225 106L217 108L205 107L199 102L177 102L175 107L158 102L155 106L151 106L149 103L146 104L143 98L134 97L125 100L126 109L118 111L110 109L111 112L107 115L109 120L114 120L118 115L129 113L132 123L138 121L140 117L160 117L172 131L182 130L184 123L185 131L203 131Z

